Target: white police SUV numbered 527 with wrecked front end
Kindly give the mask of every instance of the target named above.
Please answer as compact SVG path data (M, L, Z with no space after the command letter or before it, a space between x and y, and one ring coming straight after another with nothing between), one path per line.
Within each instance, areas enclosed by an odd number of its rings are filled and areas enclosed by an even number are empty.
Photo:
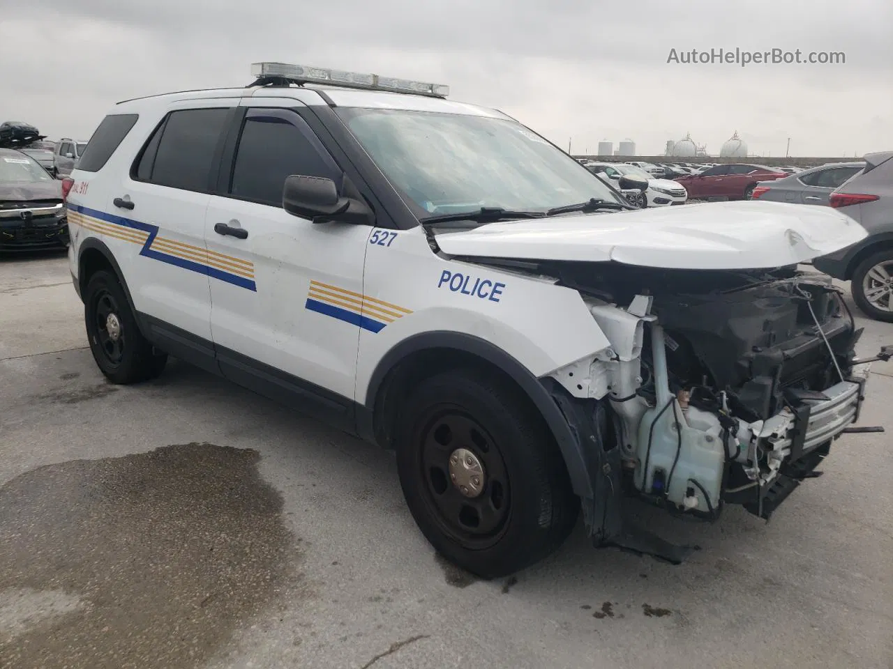
M447 87L254 74L117 104L64 182L113 383L171 355L396 450L422 533L483 576L580 509L597 545L678 561L630 498L768 517L857 417L859 333L796 270L864 237L839 211L633 210Z

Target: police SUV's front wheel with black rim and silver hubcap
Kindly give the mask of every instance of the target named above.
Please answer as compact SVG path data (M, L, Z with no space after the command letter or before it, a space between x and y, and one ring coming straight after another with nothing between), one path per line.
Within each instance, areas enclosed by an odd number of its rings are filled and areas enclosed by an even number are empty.
M421 382L397 417L406 503L438 553L483 578L530 566L571 532L579 502L534 407L474 369Z

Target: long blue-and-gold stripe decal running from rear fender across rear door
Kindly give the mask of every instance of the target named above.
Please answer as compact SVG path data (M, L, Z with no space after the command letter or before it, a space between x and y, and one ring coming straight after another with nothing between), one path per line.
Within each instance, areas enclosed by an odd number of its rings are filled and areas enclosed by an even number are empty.
M73 223L99 235L140 244L142 248L139 250L139 255L146 258L161 260L169 265L198 272L250 291L257 291L254 263L159 236L158 226L124 219L77 204L68 205L68 222L70 225Z

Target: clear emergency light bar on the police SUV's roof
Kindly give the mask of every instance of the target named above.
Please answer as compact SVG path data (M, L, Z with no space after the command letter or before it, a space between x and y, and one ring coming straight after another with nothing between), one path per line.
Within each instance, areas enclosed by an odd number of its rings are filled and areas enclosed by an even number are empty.
M255 62L251 73L259 80L286 79L293 84L327 84L345 88L366 88L392 93L411 93L430 97L447 97L449 87L425 81L412 81L394 77L380 77L377 74L346 72L328 68L314 68L306 65L290 65L287 62Z

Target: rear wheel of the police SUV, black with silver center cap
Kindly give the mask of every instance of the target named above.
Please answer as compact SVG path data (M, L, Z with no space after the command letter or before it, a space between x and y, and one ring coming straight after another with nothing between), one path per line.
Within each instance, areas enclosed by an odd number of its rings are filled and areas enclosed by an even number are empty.
M127 295L111 272L90 277L84 319L93 359L113 384L135 384L162 373L167 354L155 352L139 331Z

